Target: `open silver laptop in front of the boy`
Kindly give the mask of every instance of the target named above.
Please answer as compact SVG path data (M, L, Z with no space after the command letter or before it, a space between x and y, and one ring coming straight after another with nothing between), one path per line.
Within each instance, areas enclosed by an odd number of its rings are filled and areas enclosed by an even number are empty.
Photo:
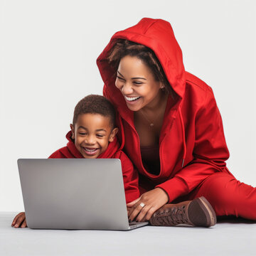
M130 230L119 159L18 159L28 228Z

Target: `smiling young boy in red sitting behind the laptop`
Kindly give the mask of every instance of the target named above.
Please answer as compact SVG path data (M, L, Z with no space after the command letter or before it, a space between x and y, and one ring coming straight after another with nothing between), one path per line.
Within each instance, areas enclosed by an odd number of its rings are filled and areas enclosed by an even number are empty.
M73 124L68 132L67 146L58 149L50 159L71 158L117 158L122 163L124 191L127 203L139 198L138 174L132 162L121 149L115 136L118 128L114 127L114 107L105 97L88 95L75 106ZM14 228L26 228L25 213L18 213L11 223Z

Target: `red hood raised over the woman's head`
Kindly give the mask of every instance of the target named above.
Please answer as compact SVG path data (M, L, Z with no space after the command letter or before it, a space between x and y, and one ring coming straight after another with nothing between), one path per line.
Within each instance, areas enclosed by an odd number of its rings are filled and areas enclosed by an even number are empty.
M121 92L114 85L117 70L113 70L107 60L110 50L118 38L127 39L151 48L159 59L166 78L174 92L181 98L183 97L185 90L185 70L182 52L174 37L174 31L170 23L162 19L142 18L135 26L114 33L114 36L110 39L110 43L108 43L97 58L97 66L100 70L102 80L110 92L110 100L114 105L126 105ZM120 98L122 98L122 101L120 101Z

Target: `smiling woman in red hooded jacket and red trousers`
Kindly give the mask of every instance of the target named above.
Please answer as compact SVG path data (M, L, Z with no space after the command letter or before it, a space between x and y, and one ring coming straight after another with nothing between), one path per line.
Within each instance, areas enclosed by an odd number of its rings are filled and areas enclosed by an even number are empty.
M172 209L166 203L201 196L217 216L256 220L256 189L226 167L229 152L213 91L184 70L167 21L143 18L115 33L97 65L104 95L119 112L119 140L139 171L142 196L127 205L130 220L154 223Z

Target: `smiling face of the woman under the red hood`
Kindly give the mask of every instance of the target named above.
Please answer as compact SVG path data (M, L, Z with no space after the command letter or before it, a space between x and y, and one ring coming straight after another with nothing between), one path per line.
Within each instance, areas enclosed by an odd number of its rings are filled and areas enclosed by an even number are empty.
M153 73L142 60L125 56L117 69L116 87L122 92L129 110L138 111L143 107L157 107L161 99L160 88Z

